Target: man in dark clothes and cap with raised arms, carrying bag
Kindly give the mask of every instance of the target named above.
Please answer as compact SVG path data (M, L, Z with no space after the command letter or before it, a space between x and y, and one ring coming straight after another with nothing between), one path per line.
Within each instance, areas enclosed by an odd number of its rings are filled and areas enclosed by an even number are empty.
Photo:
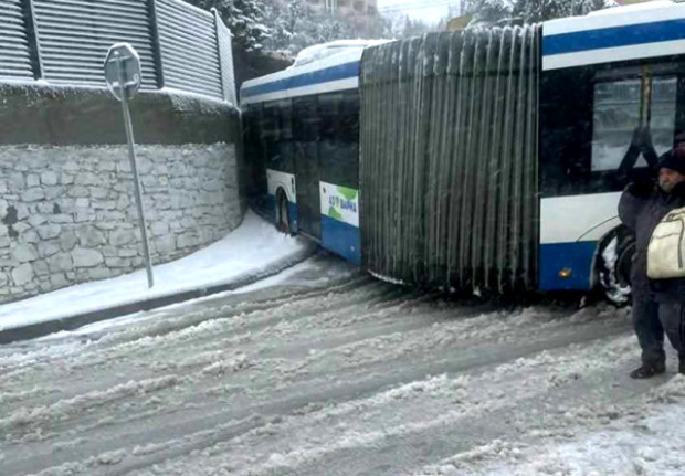
M658 183L634 182L621 195L619 216L635 233L631 271L633 326L642 348L642 366L633 379L666 371L664 331L679 356L685 373L685 278L649 279L647 246L656 225L671 211L685 207L685 149L675 147L658 160Z

